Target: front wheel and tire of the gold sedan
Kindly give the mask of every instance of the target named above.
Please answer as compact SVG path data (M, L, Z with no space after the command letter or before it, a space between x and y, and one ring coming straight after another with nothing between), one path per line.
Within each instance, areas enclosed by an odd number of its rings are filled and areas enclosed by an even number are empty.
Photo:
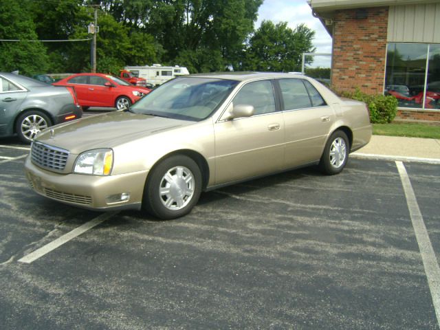
M142 207L163 220L191 212L201 192L199 166L184 155L173 155L157 164L148 175Z

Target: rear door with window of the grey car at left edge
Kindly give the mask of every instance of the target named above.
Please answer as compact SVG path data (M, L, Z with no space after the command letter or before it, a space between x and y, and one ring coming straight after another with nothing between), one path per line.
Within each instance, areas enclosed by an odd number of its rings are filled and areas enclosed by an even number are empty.
M0 135L12 134L14 118L26 96L27 89L0 76Z

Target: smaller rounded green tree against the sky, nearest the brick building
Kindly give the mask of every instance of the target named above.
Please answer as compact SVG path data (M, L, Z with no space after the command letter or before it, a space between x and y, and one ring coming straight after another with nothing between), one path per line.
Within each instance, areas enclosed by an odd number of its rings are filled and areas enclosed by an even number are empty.
M300 71L303 52L315 52L312 40L315 32L305 24L294 30L287 22L278 24L263 21L261 27L250 38L243 54L241 69L256 71L292 72Z

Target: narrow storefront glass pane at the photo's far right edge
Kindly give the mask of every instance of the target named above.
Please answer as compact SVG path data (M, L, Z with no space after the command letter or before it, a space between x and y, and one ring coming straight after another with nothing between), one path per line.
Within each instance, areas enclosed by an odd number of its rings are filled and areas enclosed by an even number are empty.
M425 108L440 109L440 45L429 47Z

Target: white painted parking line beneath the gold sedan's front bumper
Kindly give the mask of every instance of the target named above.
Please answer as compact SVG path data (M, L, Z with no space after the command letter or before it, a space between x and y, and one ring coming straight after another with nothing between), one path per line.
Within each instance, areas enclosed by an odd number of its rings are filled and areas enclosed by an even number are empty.
M64 234L63 236L56 239L55 241L52 241L49 244L46 244L43 247L39 248L38 250L35 250L34 252L32 252L26 256L23 256L23 258L19 259L19 262L32 263L32 261L36 261L36 259L39 259L42 256L44 256L45 254L55 250L56 248L60 247L64 243L71 241L76 236L79 236L80 234L87 232L87 230L94 228L96 225L99 225L100 223L113 217L113 215L115 215L115 214L118 214L118 212L108 212L108 213L101 214L99 217L96 217L95 219L93 219L89 222L86 222L83 225L80 225L80 227L72 230L71 232L68 232L67 234Z

